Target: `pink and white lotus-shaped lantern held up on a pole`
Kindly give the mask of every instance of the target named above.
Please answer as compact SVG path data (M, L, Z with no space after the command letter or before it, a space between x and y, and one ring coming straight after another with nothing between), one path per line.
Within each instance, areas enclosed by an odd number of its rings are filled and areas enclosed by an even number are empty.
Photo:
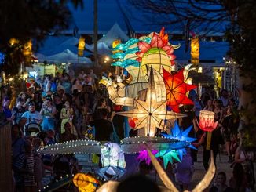
M217 128L218 121L214 122L214 112L209 110L200 110L199 128L205 132L212 132Z

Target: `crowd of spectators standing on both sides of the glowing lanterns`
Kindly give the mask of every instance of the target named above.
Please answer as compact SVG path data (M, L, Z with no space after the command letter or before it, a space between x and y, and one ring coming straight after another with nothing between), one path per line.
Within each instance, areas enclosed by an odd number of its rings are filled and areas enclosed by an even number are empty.
M2 92L1 121L12 122L12 160L13 177L16 191L37 191L49 181L43 178L49 174L52 179L79 172L77 159L73 155L51 157L40 155L37 150L49 144L75 139L111 140L113 130L119 139L124 138L123 118L115 116L122 107L115 106L108 98L104 85L98 84L99 78L105 76L115 79L115 74L94 74L74 71L45 75L43 78L29 78L27 90L16 95L14 89ZM218 96L219 95L219 96ZM229 187L240 186L254 190L253 156L247 154L239 140L239 115L236 97L232 92L221 90L219 94L212 86L204 88L202 96L194 92L189 95L193 106L181 107L181 112L188 117L182 118L179 124L183 129L194 125L189 136L196 137L195 147L203 146L203 166L207 170L210 150L214 151L214 161L217 154L225 151L229 163L234 168L234 176ZM199 111L210 110L215 114L218 128L212 132L210 150L206 149L207 132L199 129ZM120 126L121 125L121 126ZM133 130L130 132L136 136ZM196 150L188 150L182 163L175 170L177 182L182 190L188 189L194 172L194 162L197 161ZM242 165L242 168L239 166ZM243 170L242 170L243 169ZM243 172L238 174L237 172ZM225 173L220 172L212 191L230 191L225 187ZM224 183L223 183L224 182ZM221 190L219 190L221 188Z

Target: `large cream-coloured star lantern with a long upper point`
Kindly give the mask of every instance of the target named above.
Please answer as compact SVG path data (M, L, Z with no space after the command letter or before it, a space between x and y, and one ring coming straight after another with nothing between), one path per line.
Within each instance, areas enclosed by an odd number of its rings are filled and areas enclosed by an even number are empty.
M165 119L176 119L185 117L183 114L176 114L173 111L166 111L166 100L156 100L156 89L153 69L150 70L148 80L148 91L146 100L134 99L136 109L119 112L117 114L130 118L137 118L135 129L144 128L145 136L155 136L155 129L164 129Z

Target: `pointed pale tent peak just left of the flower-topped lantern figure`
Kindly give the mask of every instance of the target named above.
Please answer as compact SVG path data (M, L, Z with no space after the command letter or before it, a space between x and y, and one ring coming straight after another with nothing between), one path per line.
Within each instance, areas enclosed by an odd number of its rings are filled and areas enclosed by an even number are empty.
M113 27L104 35L98 42L104 42L108 47L112 47L112 42L116 39L120 39L122 42L127 42L129 37L119 27L119 24L115 23Z

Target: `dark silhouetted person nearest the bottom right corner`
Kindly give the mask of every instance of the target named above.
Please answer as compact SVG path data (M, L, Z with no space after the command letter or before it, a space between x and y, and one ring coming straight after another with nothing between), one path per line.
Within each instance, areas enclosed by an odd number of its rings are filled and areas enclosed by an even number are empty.
M243 165L236 163L233 167L232 177L229 180L229 187L234 192L245 192L247 191L247 176L243 170Z

